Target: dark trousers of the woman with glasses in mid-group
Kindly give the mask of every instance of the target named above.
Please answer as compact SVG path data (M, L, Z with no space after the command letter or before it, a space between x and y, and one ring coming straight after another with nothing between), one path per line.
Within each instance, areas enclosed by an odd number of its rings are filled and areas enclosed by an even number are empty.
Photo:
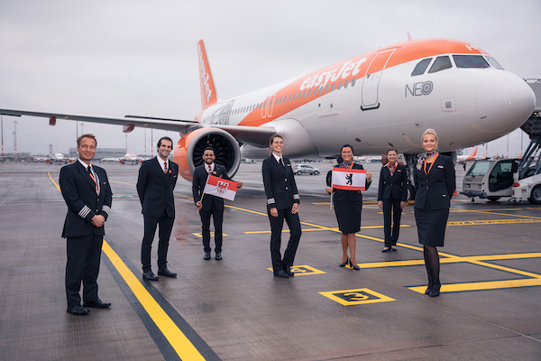
M291 208L278 209L278 217L272 217L271 211L268 211L269 219L271 220L271 259L272 269L279 271L285 265L293 265L295 254L297 253L298 241L300 240L300 219L298 213L292 214ZM284 258L281 258L281 231L284 227L284 219L289 227L289 242Z

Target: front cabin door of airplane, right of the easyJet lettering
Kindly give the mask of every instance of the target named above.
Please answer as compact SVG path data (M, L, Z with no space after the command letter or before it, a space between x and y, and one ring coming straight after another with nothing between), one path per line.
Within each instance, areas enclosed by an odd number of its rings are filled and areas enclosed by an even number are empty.
M366 69L362 78L362 110L377 109L380 107L378 101L378 87L380 85L381 75L387 66L390 56L396 49L381 51L376 54L374 59Z

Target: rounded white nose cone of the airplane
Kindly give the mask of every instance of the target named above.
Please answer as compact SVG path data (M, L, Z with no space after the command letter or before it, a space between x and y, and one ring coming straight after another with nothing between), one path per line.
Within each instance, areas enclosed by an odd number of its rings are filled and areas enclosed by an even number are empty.
M494 74L477 89L477 115L487 131L510 132L532 115L536 96L516 75L501 70Z

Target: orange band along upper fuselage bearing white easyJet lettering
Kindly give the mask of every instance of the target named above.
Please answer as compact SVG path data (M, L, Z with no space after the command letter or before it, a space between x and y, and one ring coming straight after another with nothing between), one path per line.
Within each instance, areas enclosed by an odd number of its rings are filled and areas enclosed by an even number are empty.
M370 71L367 70L376 54L390 50L395 51L390 56L389 60L384 58L384 60L387 61L386 66L384 63L376 64L380 58L378 57L374 64L372 64ZM351 83L353 79L359 81L368 74L380 71L382 67L389 69L408 61L449 53L488 54L486 51L482 51L481 49L472 46L472 44L454 40L431 39L400 42L385 48L380 48L376 51L364 53L348 60L337 62L326 68L318 69L304 77L298 78L276 93L269 94L269 97L276 95L276 97L273 98L271 112L267 112L266 109L263 109L265 102L268 102L268 100L261 99L261 105L245 116L239 125L259 126L271 122L299 106L304 106L317 97L329 93L333 84L335 84L335 88L337 88L340 81L342 81L342 85L344 85L345 81L348 81L348 83ZM328 89L326 91L327 85ZM317 89L317 91L315 91L315 89ZM294 95L296 96L295 101L292 100ZM284 97L288 97L288 101L284 101ZM276 104L277 101L279 102L278 104ZM198 117L200 119L200 116Z

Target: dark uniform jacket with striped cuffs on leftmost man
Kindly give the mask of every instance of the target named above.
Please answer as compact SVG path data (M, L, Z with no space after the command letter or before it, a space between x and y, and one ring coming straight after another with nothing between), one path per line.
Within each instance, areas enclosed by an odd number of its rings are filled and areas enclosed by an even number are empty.
M105 169L95 165L92 165L92 168L99 179L99 195L96 194L96 183L80 162L65 165L60 169L60 191L68 205L62 237L105 235L105 228L92 226L90 220L96 215L107 220L111 212L113 192Z

